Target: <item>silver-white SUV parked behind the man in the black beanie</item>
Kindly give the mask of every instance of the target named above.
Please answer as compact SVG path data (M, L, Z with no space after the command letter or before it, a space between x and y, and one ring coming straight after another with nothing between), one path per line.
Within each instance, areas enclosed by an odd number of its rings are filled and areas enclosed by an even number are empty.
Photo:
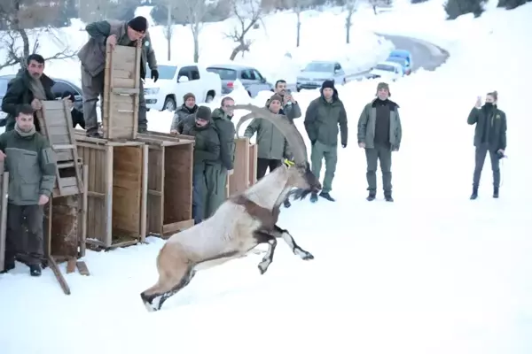
M296 88L317 89L326 80L332 80L340 85L347 82L346 73L339 62L336 61L312 61L297 75Z

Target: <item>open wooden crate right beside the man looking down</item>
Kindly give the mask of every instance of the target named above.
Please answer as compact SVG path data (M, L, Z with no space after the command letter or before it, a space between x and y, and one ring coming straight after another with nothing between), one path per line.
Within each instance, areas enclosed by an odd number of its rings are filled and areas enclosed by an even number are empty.
M192 227L194 141L155 132L137 140L149 149L147 232L166 237Z

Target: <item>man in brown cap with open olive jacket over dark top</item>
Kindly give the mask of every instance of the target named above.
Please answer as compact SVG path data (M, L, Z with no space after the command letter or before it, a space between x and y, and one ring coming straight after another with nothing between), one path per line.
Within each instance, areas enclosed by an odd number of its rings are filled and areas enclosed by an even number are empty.
M377 161L382 172L384 198L392 198L392 151L398 151L403 135L399 105L389 99L390 90L386 82L377 85L377 98L366 104L358 119L358 146L365 149L367 161L368 201L377 194Z

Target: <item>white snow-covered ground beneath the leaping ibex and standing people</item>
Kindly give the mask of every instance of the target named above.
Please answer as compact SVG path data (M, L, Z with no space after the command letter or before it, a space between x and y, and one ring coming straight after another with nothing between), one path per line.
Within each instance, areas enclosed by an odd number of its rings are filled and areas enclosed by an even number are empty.
M89 251L90 277L66 276L71 296L62 294L50 270L30 279L19 265L0 275L1 352L532 352L532 122L526 102L532 72L523 70L532 4L444 22L438 2L364 24L380 23L381 31L450 50L434 73L420 71L391 85L403 121L394 204L381 195L364 200L356 121L377 81L349 82L339 88L350 130L333 183L337 202L294 203L280 216L279 224L315 260L301 261L280 242L263 276L256 268L261 256L232 261L198 273L154 313L145 311L139 293L156 280L160 239ZM509 158L500 199L491 198L487 160L480 197L472 202L473 127L465 120L476 96L493 89L508 118ZM317 91L294 95L305 109ZM239 103L250 100L235 96ZM263 104L266 96L254 102ZM304 131L302 119L297 125ZM168 113L150 114L151 129L168 127Z

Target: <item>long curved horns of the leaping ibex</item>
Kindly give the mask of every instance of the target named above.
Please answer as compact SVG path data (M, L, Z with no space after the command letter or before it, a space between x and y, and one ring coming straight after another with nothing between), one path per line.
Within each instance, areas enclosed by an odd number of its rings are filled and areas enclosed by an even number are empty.
M239 123L237 124L237 136L239 136L239 127L246 120L253 118L262 118L270 120L270 122L279 129L282 135L285 135L290 150L293 153L293 160L296 164L304 164L308 161L307 158L307 146L305 141L301 136L299 130L295 127L293 122L286 119L285 116L274 114L270 112L267 108L260 108L253 104L235 104L231 107L233 110L247 110L251 111L245 116L240 118Z

